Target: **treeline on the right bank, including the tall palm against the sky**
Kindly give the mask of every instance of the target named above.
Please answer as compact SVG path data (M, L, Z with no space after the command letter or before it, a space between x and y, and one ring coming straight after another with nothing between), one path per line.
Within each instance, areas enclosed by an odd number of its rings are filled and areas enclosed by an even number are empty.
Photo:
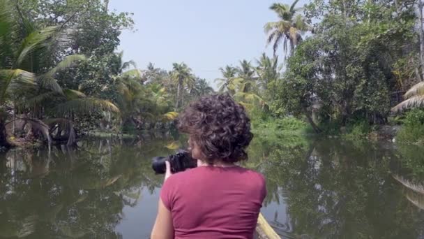
M222 92L256 101L264 118L306 119L317 133L399 123L396 113L423 106L421 1L297 3L274 3L279 20L264 26L274 54L286 57L283 66L265 55L254 67L227 66Z

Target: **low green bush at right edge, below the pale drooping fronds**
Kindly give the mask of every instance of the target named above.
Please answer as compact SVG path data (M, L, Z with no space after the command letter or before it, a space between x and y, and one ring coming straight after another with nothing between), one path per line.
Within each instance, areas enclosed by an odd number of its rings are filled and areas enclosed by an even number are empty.
M424 143L424 110L410 110L402 119L403 125L396 139L402 143Z

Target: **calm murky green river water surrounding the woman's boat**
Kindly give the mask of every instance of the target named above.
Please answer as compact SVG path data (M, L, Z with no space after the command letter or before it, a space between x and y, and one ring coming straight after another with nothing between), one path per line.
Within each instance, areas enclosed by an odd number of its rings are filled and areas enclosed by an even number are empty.
M0 238L149 238L162 184L151 158L185 141L156 133L0 154ZM249 157L282 238L424 237L422 147L255 137Z

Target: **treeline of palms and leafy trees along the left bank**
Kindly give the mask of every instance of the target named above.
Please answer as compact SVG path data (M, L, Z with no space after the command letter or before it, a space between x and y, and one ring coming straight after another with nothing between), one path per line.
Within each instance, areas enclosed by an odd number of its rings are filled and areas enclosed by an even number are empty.
M79 133L167 127L185 102L213 89L183 63L139 70L117 53L130 13L108 1L0 0L0 146Z

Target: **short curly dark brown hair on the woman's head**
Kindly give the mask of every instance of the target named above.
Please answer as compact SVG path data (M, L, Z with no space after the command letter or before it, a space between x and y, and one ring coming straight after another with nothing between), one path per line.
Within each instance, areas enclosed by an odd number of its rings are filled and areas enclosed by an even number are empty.
M190 134L208 164L248 159L245 148L253 134L245 108L228 94L204 96L179 115L179 130Z

